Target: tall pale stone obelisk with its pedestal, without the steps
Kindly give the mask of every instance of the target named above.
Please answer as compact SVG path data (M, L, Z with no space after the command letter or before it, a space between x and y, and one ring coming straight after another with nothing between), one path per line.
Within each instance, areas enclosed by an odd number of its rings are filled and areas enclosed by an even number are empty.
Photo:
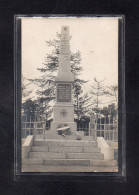
M74 106L72 102L74 76L71 72L69 42L69 27L62 26L58 75L55 78L56 103L53 108L51 130L56 130L60 124L64 123L68 124L71 133L75 133L77 124L74 122Z

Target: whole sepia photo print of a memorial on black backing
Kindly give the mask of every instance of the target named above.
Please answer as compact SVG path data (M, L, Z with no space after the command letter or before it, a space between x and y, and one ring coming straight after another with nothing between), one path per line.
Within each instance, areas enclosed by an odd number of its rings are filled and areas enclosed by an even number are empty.
M118 172L119 17L21 17L21 171Z

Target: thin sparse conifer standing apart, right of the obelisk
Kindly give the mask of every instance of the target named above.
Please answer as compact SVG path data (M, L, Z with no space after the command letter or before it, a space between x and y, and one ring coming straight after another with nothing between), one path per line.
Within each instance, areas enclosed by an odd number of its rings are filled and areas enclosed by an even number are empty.
M105 79L104 79L105 80ZM105 88L103 86L103 82L102 81L98 81L96 78L94 78L94 83L91 85L92 90L91 90L91 94L93 95L92 99L93 99L93 111L98 115L98 113L100 112L100 104L101 99L100 97L102 97L105 94Z

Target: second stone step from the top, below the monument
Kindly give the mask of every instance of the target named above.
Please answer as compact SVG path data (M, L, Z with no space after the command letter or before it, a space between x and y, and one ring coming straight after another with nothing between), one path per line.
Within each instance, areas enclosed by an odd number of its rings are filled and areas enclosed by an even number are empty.
M48 147L48 146L32 146L31 148L32 152L101 152L100 148L97 147L71 147L71 146L65 146L65 147Z

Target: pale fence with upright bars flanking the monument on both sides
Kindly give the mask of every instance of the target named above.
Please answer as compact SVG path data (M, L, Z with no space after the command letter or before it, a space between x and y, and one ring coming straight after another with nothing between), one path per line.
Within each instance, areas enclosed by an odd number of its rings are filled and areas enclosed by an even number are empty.
M28 135L45 138L45 131L50 129L50 123L46 123L43 116L35 113L32 118L26 114L22 115L22 138ZM114 119L108 121L90 117L90 122L77 123L77 131L83 131L85 136L104 137L105 140L118 141L118 124Z

